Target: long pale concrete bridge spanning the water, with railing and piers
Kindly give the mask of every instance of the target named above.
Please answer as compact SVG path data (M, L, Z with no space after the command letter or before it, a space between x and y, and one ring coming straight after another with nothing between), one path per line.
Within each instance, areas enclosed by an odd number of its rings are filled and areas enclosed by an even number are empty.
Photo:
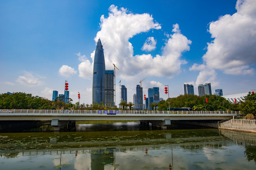
M50 120L59 130L76 121L138 120L142 124L166 128L171 120L223 120L237 116L238 111L164 111L164 110L0 110L1 120Z

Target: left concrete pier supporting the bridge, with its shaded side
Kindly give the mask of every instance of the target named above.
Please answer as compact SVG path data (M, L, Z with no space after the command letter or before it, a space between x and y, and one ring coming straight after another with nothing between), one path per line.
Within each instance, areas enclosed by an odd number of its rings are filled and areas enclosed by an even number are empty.
M76 127L76 121L69 121L69 120L58 120L52 119L51 126L54 127L54 131L60 131L61 129L71 130L73 127Z

